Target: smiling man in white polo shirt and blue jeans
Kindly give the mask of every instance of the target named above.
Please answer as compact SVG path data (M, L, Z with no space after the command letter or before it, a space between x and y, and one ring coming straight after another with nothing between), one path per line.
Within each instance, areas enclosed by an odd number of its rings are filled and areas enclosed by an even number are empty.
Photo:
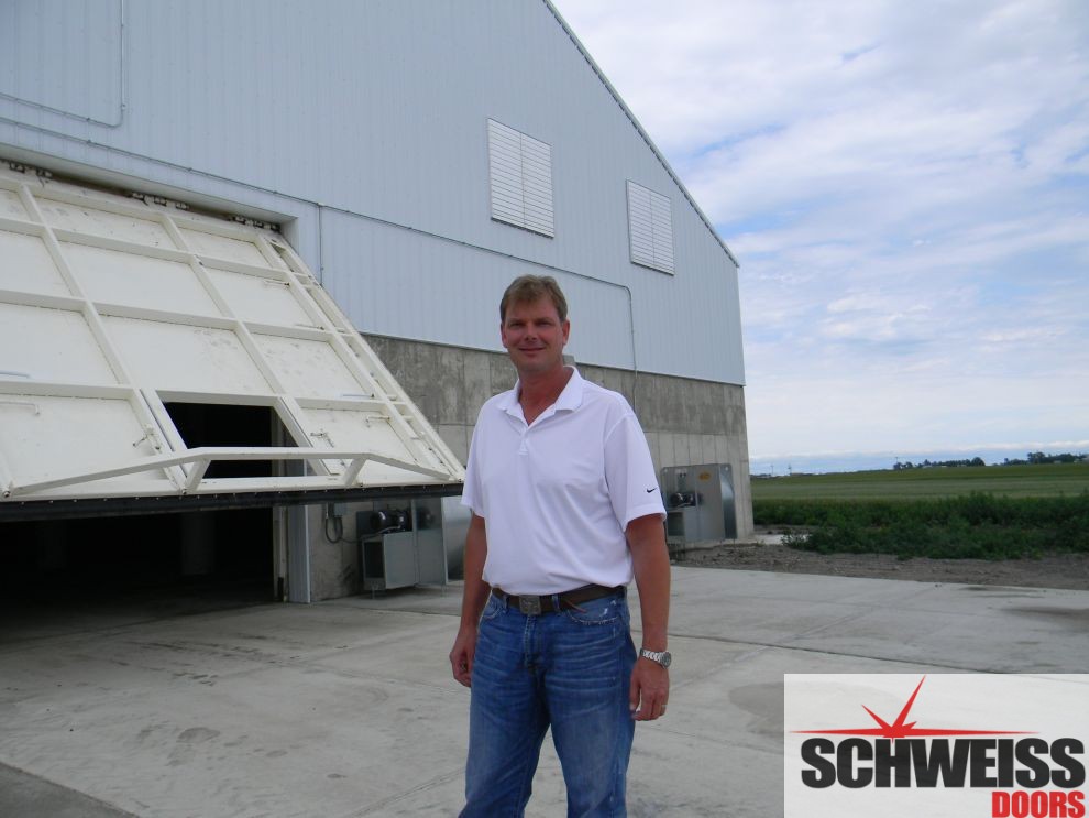
M463 818L524 814L550 727L569 816L625 815L635 721L660 718L669 698L653 465L627 401L563 364L570 330L556 280L507 287L499 334L518 382L481 408L462 498L473 514L450 663L472 687Z

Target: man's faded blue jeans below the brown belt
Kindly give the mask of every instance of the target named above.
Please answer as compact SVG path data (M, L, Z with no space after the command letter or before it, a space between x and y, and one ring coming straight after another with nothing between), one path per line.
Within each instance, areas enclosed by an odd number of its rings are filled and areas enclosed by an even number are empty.
M636 652L623 592L527 617L492 596L473 661L462 818L521 816L549 726L569 816L624 816Z

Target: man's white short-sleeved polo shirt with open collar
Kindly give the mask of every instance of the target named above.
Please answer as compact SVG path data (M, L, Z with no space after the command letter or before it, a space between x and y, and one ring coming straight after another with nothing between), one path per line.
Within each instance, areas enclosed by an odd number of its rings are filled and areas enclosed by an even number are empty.
M508 593L560 593L631 581L624 531L666 519L639 421L617 392L572 369L532 425L518 385L481 408L462 504L484 517L484 581Z

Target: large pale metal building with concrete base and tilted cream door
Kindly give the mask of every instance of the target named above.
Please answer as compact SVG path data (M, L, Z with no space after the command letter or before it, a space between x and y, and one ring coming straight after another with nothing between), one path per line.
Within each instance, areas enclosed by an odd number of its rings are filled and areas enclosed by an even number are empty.
M354 512L458 490L525 272L751 531L736 260L547 0L9 0L0 160L9 564L246 539L278 597L355 592Z

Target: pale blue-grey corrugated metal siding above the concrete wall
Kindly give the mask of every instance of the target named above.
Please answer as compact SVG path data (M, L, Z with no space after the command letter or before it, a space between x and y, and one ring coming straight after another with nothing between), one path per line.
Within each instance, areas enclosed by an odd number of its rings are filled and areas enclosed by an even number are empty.
M490 117L550 145L554 238L490 218ZM550 272L579 360L744 382L733 262L541 0L8 0L11 148L296 218L367 332L497 349ZM672 199L673 276L629 260L627 179Z

